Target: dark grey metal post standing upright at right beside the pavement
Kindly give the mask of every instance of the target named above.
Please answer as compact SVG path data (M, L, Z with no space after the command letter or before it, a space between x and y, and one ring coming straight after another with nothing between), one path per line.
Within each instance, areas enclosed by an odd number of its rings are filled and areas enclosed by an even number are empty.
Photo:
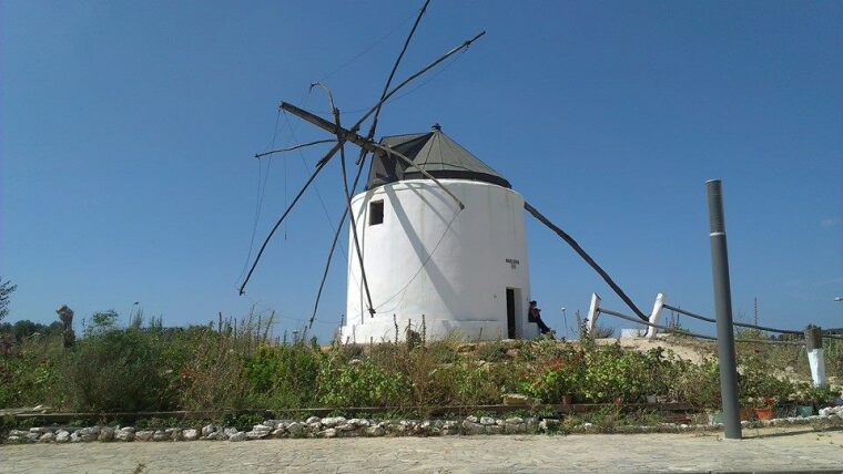
M718 319L718 357L720 359L720 391L723 402L725 437L741 439L740 404L738 403L738 368L732 329L732 290L729 282L729 253L725 245L723 189L720 179L705 182L709 195L709 228L711 236L711 271L714 280L714 306Z

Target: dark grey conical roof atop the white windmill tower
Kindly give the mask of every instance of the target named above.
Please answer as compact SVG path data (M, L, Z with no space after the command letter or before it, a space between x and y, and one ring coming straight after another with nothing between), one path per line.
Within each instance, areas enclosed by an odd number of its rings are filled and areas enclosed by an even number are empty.
M396 152L413 161L405 161L378 154L372 162L367 189L405 179L425 179L419 168L437 178L480 181L504 187L512 187L509 182L464 148L436 124L428 133L385 136L380 140Z

